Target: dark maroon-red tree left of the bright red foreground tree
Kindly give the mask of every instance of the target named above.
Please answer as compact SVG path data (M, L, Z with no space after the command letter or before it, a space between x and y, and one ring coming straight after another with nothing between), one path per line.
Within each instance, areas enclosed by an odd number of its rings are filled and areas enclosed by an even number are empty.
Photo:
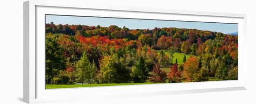
M154 83L163 83L166 80L166 71L160 69L160 64L157 63L152 70L152 73L149 77L150 82Z

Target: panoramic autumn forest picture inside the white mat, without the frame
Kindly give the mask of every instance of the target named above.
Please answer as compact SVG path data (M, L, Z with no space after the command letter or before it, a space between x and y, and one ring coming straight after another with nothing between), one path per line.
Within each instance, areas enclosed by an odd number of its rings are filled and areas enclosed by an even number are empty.
M238 80L238 24L45 15L45 88Z

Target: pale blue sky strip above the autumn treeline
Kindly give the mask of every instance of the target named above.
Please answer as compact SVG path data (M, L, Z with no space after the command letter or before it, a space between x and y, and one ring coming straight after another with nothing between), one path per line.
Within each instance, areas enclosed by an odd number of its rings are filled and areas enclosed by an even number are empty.
M116 25L126 26L129 29L154 29L155 27L176 27L198 30L209 30L213 32L232 33L238 31L238 24L227 23L208 23L208 22L188 22L171 20L140 20L140 19L119 19L102 17L81 17L81 16L62 16L46 15L46 23L69 25L87 25L87 26L105 26Z

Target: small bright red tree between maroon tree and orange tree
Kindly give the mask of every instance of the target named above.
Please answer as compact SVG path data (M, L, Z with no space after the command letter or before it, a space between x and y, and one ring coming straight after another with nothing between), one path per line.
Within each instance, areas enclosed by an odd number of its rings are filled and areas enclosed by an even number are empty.
M170 72L168 74L168 82L180 82L181 81L181 73L178 71L177 64L172 65L170 68Z

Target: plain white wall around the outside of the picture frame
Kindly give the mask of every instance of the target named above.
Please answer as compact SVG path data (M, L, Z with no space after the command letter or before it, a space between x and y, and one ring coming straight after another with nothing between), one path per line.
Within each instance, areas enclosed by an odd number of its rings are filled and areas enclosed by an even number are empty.
M0 3L0 104L25 104L23 99L23 1ZM60 1L61 2L61 1ZM254 0L91 0L131 7L151 7L222 13L245 13L248 39L246 91L89 100L87 104L256 104L256 6ZM82 104L56 102L51 104Z

